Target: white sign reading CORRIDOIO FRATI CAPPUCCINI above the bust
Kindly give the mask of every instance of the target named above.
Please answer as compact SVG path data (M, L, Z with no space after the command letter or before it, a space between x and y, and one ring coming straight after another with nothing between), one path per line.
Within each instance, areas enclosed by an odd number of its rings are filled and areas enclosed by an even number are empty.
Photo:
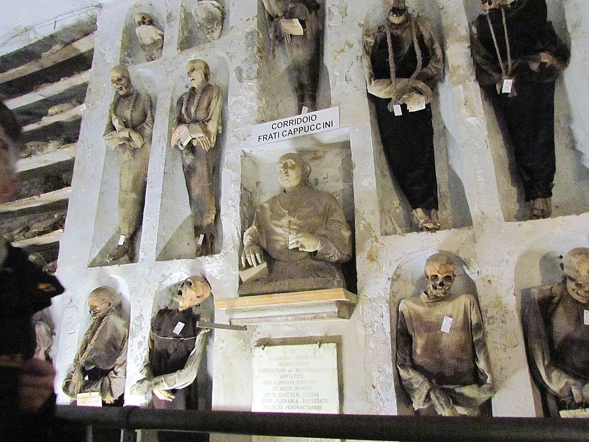
M252 126L252 146L274 143L301 135L317 134L339 127L339 107L330 107L307 114Z

